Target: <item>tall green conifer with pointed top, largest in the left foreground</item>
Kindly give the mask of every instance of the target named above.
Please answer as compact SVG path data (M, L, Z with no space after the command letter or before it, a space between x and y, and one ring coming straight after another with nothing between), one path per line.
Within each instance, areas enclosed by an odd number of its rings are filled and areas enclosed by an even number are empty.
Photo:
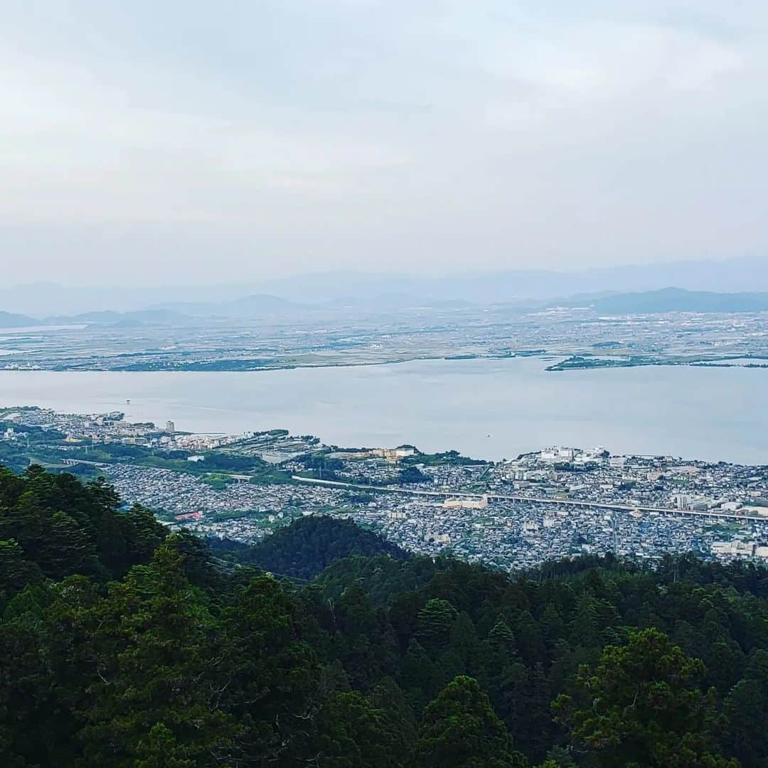
M128 768L152 758L153 739L169 738L195 766L230 759L237 727L217 708L227 685L227 649L170 543L150 565L113 584L91 622L96 679L80 733L89 763ZM158 724L163 728L154 730Z

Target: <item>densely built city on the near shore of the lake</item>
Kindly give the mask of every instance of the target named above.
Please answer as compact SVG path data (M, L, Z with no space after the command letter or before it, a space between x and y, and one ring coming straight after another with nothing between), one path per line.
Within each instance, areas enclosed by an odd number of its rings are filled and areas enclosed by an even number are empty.
M104 475L170 527L251 542L303 515L353 518L422 554L505 570L613 552L768 559L768 468L555 447L503 462L415 446L336 449L285 430L177 432L121 412L0 410L0 451ZM0 453L2 458L2 453Z

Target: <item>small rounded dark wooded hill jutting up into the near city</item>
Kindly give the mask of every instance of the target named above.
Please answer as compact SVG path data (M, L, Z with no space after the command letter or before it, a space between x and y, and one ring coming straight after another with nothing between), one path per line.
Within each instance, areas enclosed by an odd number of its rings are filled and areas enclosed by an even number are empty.
M217 554L227 553L240 564L303 579L314 578L333 561L352 554L384 554L399 560L409 557L397 545L351 520L324 515L300 518L251 546L217 539L209 543Z

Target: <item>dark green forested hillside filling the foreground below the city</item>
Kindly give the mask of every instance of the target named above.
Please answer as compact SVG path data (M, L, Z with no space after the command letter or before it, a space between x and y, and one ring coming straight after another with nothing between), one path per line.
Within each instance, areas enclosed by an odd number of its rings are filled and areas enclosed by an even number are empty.
M271 545L298 568L332 525ZM353 554L296 584L39 468L0 469L0 539L3 766L768 766L763 568Z

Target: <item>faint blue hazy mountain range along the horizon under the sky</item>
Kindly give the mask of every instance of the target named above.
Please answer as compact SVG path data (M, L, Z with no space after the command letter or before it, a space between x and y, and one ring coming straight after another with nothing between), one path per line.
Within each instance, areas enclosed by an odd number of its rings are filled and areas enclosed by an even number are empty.
M32 283L0 288L0 306L9 313L23 313L38 319L101 310L126 313L147 308L200 316L209 311L220 313L222 305L223 311L237 316L237 310L227 305L248 300L260 302L258 311L264 312L280 312L280 300L305 306L365 306L367 309L425 303L435 306L437 302L471 302L488 306L553 300L577 293L643 293L667 286L690 291L768 292L768 257L593 267L561 272L500 270L495 273L414 276L335 271L260 283L243 281L141 288L74 288ZM243 300L243 296L247 299ZM242 310L244 316L250 316L250 311Z

